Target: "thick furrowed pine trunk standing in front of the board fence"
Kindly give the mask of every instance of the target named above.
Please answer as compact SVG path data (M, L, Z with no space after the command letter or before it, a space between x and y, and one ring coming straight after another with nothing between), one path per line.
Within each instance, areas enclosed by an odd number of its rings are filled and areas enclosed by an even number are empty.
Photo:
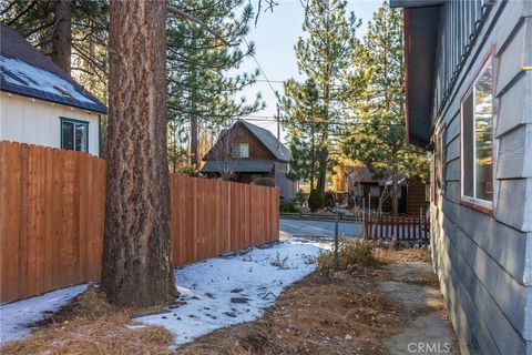
M120 305L176 295L170 254L166 1L111 1L102 288Z

